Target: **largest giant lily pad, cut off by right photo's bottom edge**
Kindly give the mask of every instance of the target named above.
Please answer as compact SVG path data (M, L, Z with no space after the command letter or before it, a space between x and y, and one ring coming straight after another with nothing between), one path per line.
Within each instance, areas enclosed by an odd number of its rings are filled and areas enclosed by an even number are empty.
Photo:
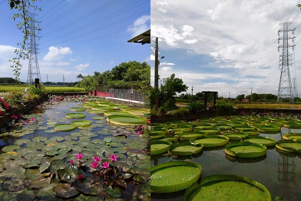
M193 184L185 192L185 200L267 200L269 191L262 184L237 175L211 175Z

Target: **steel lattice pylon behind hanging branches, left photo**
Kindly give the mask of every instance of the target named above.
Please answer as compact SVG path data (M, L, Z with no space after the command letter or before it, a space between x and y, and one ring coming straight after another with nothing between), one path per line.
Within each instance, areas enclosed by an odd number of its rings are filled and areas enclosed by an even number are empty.
M39 48L38 43L36 43L36 39L38 35L36 34L36 30L38 30L38 27L35 26L35 23L37 21L35 20L36 14L30 13L31 16L31 23L29 26L29 65L28 65L28 76L27 76L27 85L35 83L35 78L39 78L41 82L41 76L40 76L40 69L39 69L39 63L38 63L38 54L39 54Z

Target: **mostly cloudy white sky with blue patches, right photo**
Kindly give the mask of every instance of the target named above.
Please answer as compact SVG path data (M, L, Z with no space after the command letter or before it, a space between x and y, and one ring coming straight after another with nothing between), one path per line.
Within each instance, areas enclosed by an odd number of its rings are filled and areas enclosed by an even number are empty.
M187 92L218 91L219 96L278 93L278 30L291 22L294 50L289 52L298 93L301 61L301 13L297 0L181 0L151 1L152 40L159 38L159 75L175 73L189 86ZM281 35L280 35L281 37ZM152 84L154 83L154 43Z

